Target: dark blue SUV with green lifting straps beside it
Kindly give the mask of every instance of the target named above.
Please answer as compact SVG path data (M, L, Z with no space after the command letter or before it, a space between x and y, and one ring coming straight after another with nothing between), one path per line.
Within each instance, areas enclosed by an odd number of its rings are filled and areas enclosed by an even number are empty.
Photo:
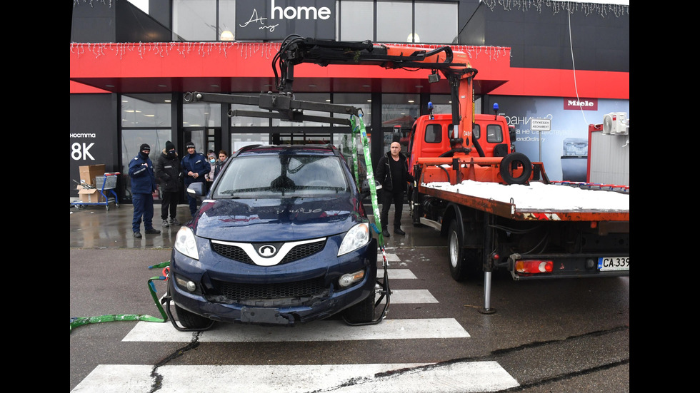
M190 195L204 197L201 184ZM229 158L177 233L167 296L187 330L213 321L289 326L339 312L370 322L376 259L339 150L248 146Z

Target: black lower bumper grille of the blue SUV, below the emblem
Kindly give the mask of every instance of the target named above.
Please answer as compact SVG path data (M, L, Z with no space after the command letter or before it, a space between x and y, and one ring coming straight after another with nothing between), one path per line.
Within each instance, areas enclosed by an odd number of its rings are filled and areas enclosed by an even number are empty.
M327 292L324 277L296 282L279 282L276 284L243 284L213 280L214 288L226 300L243 302L245 300L269 300L288 297L313 297Z

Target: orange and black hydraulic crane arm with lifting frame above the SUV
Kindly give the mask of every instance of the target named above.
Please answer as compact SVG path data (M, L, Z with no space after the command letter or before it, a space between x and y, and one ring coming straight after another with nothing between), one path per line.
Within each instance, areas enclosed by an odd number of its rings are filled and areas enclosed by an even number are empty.
M307 118L304 109L354 114L356 108L329 108L322 103L304 103L293 98L294 66L301 63L316 63L319 66L331 64L346 66L381 66L383 68L404 68L411 71L428 69L430 83L440 80L438 71L450 84L452 99L453 137L461 136L471 145L471 129L474 121L474 91L472 81L476 69L471 68L466 53L453 51L442 46L431 51L406 45L373 44L371 41L332 41L303 38L296 34L287 36L281 42L279 51L273 58L272 68L276 88L279 93L263 93L257 99L216 94L187 93L185 102L208 101L258 105L259 108L277 111L271 113L246 113L246 116L281 117L290 121L329 121L346 122L338 118ZM240 112L240 111L239 111ZM235 116L236 113L229 113ZM459 132L461 130L461 132ZM466 146L468 147L468 146Z

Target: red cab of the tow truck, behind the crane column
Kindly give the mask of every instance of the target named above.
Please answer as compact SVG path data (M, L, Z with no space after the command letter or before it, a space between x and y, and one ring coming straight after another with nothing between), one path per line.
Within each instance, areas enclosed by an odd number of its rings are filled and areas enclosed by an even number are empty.
M439 157L449 152L452 127L451 114L425 115L419 117L411 128L409 136L409 172L417 158ZM484 157L505 157L514 151L514 136L504 116L477 114L471 132L478 141ZM466 141L464 145L466 146ZM472 149L469 155L479 157Z

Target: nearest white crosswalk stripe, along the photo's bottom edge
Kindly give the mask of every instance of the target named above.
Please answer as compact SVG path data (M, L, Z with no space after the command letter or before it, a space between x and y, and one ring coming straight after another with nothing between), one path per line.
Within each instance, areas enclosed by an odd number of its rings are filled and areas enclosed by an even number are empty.
M103 364L75 389L80 392L149 392L153 367ZM320 364L161 366L158 392L496 392L518 382L496 362L449 364ZM377 376L377 373L379 374Z

